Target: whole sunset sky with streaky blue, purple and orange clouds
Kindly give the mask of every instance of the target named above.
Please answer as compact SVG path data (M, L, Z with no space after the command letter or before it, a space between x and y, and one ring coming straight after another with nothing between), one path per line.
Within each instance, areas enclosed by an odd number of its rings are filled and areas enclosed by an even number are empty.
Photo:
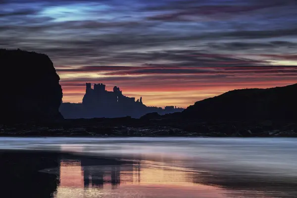
M296 10L297 0L0 0L0 48L49 55L64 102L81 102L90 82L187 107L297 83Z

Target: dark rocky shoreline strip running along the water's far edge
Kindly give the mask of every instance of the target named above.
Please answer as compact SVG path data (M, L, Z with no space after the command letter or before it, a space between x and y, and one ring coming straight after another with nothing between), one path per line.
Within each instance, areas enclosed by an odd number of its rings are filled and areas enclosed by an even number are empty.
M294 120L94 118L0 125L0 137L297 137Z

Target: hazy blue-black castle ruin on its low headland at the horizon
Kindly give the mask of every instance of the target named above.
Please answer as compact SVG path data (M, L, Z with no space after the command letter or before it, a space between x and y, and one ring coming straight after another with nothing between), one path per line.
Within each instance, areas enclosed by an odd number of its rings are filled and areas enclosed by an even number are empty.
M109 92L105 90L103 84L95 84L94 89L92 89L91 83L86 83L86 94L82 103L62 103L59 110L64 118L115 118L125 116L139 118L151 112L163 115L180 112L184 109L174 108L174 106L166 106L165 109L146 106L142 97L135 101L135 98L124 96L120 88L116 86L112 92Z

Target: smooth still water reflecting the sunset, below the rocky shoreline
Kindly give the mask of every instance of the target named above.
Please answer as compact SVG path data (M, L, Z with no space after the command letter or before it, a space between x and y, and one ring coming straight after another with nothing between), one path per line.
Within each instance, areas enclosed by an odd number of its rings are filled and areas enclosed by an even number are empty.
M294 138L0 138L0 150L30 197L297 197Z

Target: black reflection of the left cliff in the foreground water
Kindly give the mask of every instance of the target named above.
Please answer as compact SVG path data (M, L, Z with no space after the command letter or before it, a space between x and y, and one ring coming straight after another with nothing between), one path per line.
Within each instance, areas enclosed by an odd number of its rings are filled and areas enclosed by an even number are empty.
M2 150L0 158L1 197L53 197L58 186L58 177L40 170L58 167L58 154Z

